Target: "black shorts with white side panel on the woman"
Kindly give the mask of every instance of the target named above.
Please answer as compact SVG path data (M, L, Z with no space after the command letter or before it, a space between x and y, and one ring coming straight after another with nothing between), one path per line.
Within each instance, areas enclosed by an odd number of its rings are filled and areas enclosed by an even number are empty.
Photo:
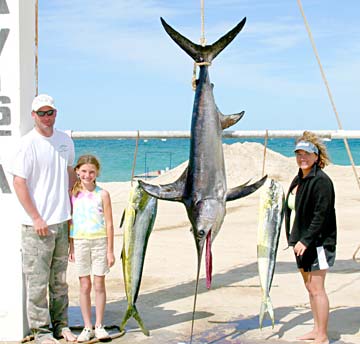
M336 246L308 247L302 256L296 256L296 263L299 269L305 272L316 270L327 270L334 265Z

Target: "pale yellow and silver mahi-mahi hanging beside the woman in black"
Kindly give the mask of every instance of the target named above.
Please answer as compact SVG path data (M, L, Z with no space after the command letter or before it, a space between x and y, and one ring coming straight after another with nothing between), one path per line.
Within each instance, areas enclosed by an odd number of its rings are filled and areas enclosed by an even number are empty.
M274 276L280 229L284 215L284 191L281 184L268 179L260 192L257 260L261 287L259 325L268 312L274 327L274 310L270 288Z

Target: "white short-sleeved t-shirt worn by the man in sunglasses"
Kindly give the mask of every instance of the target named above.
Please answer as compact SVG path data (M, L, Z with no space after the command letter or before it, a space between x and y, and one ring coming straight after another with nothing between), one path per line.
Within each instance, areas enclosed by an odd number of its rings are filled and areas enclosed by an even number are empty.
M74 159L73 141L56 129L51 137L40 135L34 128L21 138L11 173L26 179L30 197L48 225L71 217L67 167ZM22 223L33 225L24 209Z

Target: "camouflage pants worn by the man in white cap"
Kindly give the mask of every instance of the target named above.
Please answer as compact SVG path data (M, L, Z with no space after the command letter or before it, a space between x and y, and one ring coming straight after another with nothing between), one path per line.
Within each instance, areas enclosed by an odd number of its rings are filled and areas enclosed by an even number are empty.
M23 225L21 241L29 327L35 333L46 333L51 320L57 335L68 323L67 222L49 226L47 236L39 236L34 227Z

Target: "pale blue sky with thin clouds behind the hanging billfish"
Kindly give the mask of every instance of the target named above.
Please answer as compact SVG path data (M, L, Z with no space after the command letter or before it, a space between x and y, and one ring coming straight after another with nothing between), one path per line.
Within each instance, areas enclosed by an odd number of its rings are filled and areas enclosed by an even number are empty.
M360 1L302 0L345 130L359 130ZM189 130L193 60L160 17L195 43L200 0L39 0L39 93L74 131ZM244 17L209 67L230 130L338 129L296 0L204 0L208 44Z

